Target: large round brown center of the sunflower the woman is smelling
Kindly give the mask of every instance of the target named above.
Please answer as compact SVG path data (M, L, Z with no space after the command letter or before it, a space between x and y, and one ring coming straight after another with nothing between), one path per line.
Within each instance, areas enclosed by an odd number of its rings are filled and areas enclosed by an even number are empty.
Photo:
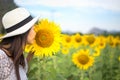
M36 34L35 40L41 47L50 47L54 41L54 36L48 30L39 30Z

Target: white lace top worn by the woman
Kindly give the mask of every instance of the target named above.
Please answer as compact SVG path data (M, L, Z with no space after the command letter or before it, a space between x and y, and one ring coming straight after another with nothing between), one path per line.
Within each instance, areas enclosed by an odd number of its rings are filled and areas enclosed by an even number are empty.
M25 63L27 64L26 60ZM26 75L27 69L28 66L25 66L25 68L23 68L21 65L19 66L21 80L28 80ZM0 49L0 80L17 80L13 61L1 49Z

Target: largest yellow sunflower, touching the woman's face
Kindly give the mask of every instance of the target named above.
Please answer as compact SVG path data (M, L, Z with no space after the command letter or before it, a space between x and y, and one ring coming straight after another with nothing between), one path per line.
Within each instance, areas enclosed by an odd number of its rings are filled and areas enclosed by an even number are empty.
M60 50L61 29L60 26L47 19L39 20L35 25L35 42L28 46L35 51L35 56L52 56ZM27 50L27 49L26 49Z

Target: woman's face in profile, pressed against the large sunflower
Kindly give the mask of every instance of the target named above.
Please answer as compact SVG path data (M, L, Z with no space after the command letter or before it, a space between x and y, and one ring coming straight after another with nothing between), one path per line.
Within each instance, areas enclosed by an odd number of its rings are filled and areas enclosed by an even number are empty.
M32 44L35 39L36 32L34 31L34 26L30 29L30 32L28 33L27 36L27 43Z

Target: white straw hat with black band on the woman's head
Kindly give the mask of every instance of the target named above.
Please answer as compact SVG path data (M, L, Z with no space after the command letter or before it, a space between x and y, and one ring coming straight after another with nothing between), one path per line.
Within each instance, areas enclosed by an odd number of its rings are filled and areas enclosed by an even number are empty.
M19 35L27 32L39 19L39 16L32 18L25 8L16 8L7 12L2 18L2 24L6 34L0 39Z

